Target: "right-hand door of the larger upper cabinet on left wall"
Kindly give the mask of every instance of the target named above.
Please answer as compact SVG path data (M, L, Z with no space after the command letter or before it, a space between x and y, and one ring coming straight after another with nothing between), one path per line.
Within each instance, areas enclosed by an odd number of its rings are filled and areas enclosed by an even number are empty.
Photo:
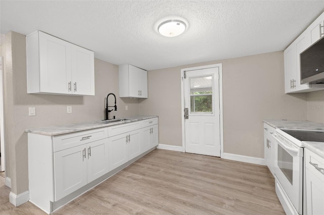
M72 94L95 95L94 53L71 44Z

